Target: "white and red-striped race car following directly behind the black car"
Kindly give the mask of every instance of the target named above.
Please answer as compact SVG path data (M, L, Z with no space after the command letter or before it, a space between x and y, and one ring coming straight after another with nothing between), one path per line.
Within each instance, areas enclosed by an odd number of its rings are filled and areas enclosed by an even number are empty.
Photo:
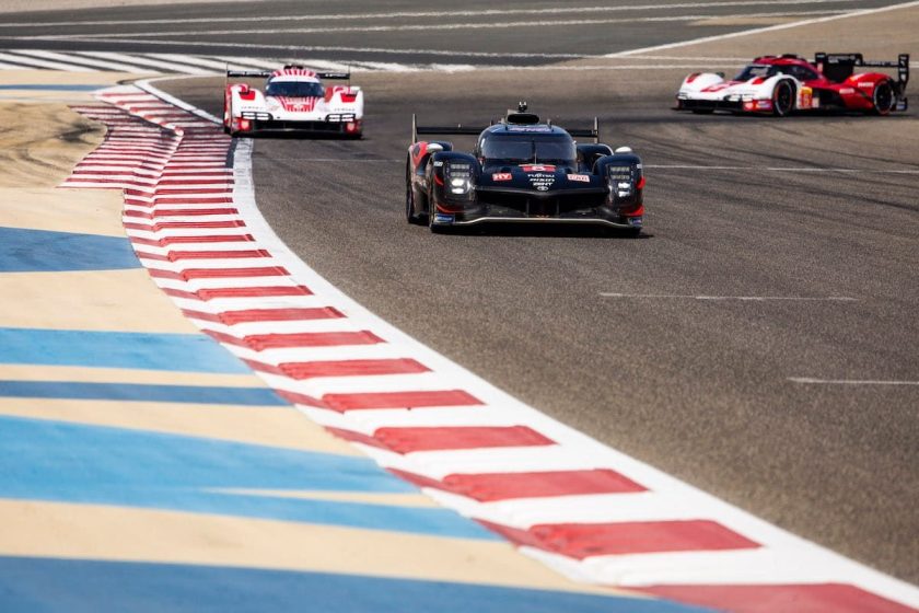
M235 78L267 78L261 92ZM288 65L280 70L226 70L223 129L233 136L258 132L314 132L360 138L363 92L350 84L350 72L316 72ZM324 86L323 79L349 80Z

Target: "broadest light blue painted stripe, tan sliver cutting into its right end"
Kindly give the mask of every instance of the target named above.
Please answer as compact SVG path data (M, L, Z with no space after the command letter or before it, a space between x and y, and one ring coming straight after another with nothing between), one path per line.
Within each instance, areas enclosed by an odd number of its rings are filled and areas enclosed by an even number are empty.
M216 491L228 488L417 491L367 458L0 416L0 498L498 540L447 509Z

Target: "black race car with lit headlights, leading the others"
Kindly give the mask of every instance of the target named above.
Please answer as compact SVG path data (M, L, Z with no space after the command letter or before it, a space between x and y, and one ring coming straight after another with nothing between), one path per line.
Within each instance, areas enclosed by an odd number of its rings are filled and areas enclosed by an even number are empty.
M478 135L472 154L418 135ZM644 206L641 159L591 129L563 130L521 103L488 127L418 126L406 161L405 213L432 232L485 222L593 223L638 234ZM572 137L589 137L580 144Z

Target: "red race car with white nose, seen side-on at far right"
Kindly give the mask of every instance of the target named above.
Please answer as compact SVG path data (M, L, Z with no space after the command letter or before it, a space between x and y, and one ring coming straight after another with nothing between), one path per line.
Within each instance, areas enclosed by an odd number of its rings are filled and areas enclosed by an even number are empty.
M896 69L896 77L863 68ZM842 108L887 115L906 111L908 80L908 54L896 61L868 61L861 54L821 53L814 61L793 54L763 56L730 81L723 73L689 74L676 94L676 109L782 117L795 111Z

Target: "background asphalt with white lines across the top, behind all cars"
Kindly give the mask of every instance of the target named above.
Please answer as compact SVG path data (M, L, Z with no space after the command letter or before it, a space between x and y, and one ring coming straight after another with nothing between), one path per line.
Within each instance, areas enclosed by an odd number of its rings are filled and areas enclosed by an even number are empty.
M287 0L129 5L13 13L0 23L0 47L540 65L720 35L737 30L741 22L749 27L892 3L639 0L623 5L580 0L501 5L472 0L443 5L418 0Z

